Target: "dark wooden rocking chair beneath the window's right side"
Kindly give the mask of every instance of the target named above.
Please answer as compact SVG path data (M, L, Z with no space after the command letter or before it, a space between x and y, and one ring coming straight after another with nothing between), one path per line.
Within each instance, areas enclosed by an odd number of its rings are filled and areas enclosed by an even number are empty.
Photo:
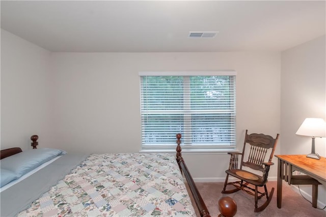
M255 196L255 210L254 210L255 212L260 212L264 210L268 206L274 193L274 187L273 187L271 188L271 191L268 195L266 183L267 183L269 167L271 165L274 165L274 163L271 162L271 159L274 156L274 151L275 151L278 138L279 138L279 134L277 134L276 138L274 139L270 135L265 135L262 133L248 134L248 130L246 130L246 138L244 139L242 153L228 152L228 154L231 155L230 165L229 165L229 169L225 171L227 175L226 175L222 193L231 194L241 189L244 192L247 192L248 194ZM244 152L246 150L246 146L249 146L248 147L249 150L247 152ZM270 155L268 161L265 162L265 156L267 155L267 152L268 153L270 152ZM246 158L248 155L247 161L243 160L244 155L246 155ZM239 159L240 162L238 163ZM245 168L251 169L252 172L246 170ZM234 182L228 182L229 175L238 178L240 180ZM254 186L251 187L251 185L249 184ZM227 190L226 189L227 185L232 185L234 186L234 188ZM262 186L264 187L263 193L258 191L258 187L262 187ZM264 204L258 207L258 200L264 196L266 196L266 201L264 202Z

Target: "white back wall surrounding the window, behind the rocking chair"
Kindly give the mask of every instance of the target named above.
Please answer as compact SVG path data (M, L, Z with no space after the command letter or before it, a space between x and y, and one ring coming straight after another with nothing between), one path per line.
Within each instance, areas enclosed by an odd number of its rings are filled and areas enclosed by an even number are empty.
M239 147L247 128L274 137L280 132L280 53L53 53L52 65L55 134L67 151L140 150L139 71L236 70ZM224 179L229 164L227 154L185 159L195 178Z

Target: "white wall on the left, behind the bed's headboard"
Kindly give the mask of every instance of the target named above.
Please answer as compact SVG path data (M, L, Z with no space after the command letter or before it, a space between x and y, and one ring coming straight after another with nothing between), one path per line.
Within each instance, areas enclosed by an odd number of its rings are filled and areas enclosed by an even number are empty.
M50 52L1 30L1 149L51 146Z

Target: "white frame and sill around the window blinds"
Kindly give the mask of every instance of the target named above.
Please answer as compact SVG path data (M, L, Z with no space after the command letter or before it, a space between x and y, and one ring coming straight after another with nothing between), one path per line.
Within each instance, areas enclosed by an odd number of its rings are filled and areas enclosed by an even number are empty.
M229 145L184 145L183 141L181 138L181 147L182 147L182 152L189 152L189 153L196 153L196 152L201 152L201 153L225 153L227 151L234 151L236 149L236 139L235 139L235 129L236 129L236 106L235 106L235 88L236 88L236 71L234 70L223 70L223 71L147 71L147 72L139 72L140 80L142 79L143 76L233 76L233 89L234 89L234 107L233 107L233 112L234 112L234 120L233 120L233 125L234 125L234 139L232 144ZM186 82L184 80L184 82ZM142 114L142 87L140 84L140 90L141 90L141 116ZM186 105L184 105L186 106ZM141 120L143 120L141 118ZM143 126L143 123L141 123L141 126ZM143 128L141 130L142 133L142 141L143 141ZM179 132L178 132L179 133ZM142 142L143 143L143 142ZM176 143L169 143L169 144L161 144L161 145L146 145L142 144L141 145L141 150L140 152L175 152L176 149Z

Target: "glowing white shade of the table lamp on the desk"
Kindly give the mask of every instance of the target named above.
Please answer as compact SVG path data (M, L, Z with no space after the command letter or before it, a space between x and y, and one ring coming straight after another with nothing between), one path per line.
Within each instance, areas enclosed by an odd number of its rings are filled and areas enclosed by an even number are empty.
M321 118L306 118L295 134L326 137L326 122Z

